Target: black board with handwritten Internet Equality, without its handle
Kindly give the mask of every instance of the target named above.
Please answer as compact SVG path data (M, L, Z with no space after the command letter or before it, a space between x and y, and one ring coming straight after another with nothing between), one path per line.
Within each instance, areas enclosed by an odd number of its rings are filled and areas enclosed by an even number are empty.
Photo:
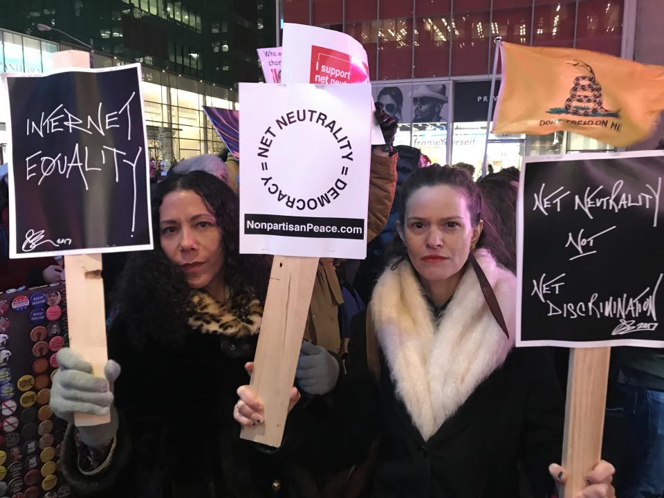
M12 257L150 248L140 66L7 88Z

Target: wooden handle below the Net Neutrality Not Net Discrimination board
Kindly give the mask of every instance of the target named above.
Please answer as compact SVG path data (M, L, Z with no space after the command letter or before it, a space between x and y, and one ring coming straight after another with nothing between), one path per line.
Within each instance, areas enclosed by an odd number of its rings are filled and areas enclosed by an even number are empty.
M561 498L586 485L584 478L602 457L611 348L571 349L567 378L562 466L567 471Z

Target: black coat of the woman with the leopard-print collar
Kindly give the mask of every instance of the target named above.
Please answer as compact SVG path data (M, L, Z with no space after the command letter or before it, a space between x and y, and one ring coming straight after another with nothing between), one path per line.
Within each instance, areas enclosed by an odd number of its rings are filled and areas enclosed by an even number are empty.
M239 439L233 419L237 387L256 336L232 338L191 331L180 347L134 347L120 319L109 332L109 357L120 414L116 452L104 472L77 470L73 430L63 462L77 496L140 498L286 497L283 466Z

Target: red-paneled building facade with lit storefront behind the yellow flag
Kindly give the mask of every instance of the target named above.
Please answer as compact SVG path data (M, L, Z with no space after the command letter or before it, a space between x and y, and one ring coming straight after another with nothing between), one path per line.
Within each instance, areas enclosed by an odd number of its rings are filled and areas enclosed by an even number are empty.
M285 22L351 35L367 50L374 98L400 111L397 144L438 163L481 165L496 37L631 58L630 0L282 0ZM628 23L625 23L627 19ZM500 65L498 65L500 66ZM500 67L498 67L498 75ZM499 90L496 84L494 98ZM422 97L439 109L423 109ZM528 95L524 95L528 98ZM580 136L489 136L495 169L524 156L613 149Z

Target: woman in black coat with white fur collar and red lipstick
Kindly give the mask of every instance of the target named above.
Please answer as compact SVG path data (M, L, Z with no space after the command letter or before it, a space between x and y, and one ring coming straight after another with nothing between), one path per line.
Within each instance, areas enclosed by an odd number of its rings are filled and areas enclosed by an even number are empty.
M548 351L513 347L516 280L492 257L500 240L481 207L461 169L434 165L406 181L398 258L351 337L346 430L289 442L340 465L362 461L380 435L376 498L513 498L524 486L541 498L565 479L559 465L547 472L561 454L560 386ZM239 395L246 425L259 400L248 386ZM598 464L579 496L614 497L613 472Z

